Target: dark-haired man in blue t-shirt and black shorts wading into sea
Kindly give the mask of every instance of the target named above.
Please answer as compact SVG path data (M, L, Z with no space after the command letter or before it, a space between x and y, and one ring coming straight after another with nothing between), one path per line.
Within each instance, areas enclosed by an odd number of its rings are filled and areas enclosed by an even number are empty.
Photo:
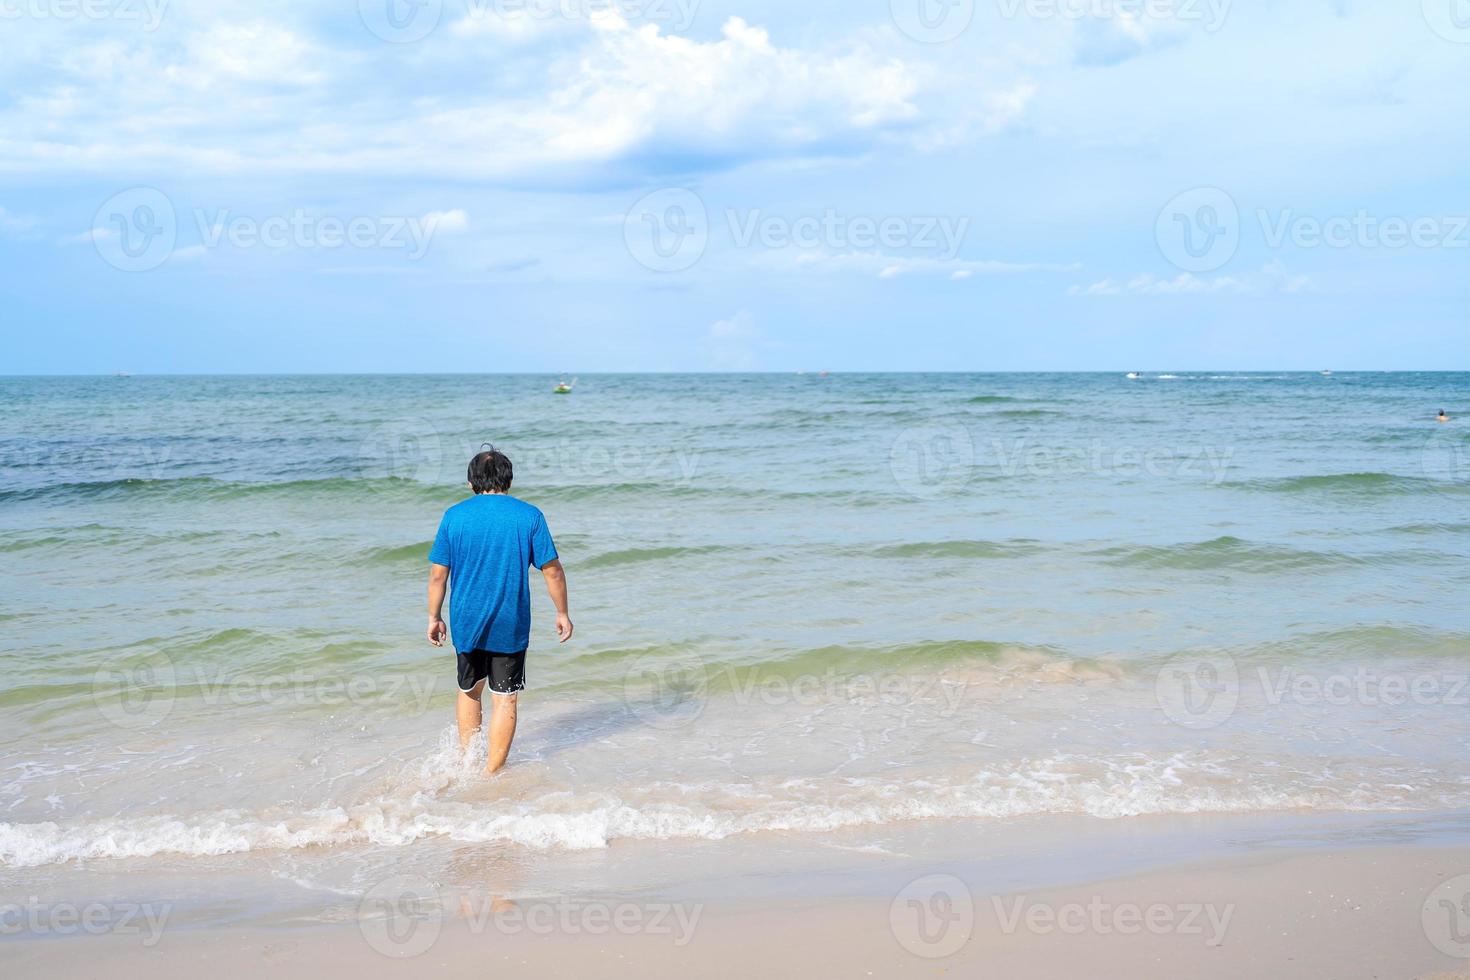
M572 639L566 614L566 573L539 510L510 497L510 460L491 448L469 461L475 495L444 511L429 550L429 642L442 646L445 588L459 655L460 748L479 733L481 696L491 693L485 771L497 773L516 738L516 693L526 686L531 645L531 573L541 570L556 604L556 635Z

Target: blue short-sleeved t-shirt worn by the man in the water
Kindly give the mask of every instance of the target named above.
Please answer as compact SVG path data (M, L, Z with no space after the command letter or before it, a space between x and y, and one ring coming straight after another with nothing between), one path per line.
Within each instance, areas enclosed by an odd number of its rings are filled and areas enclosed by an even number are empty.
M531 566L556 558L547 520L504 494L476 494L444 511L429 561L450 570L454 649L519 654L531 645Z

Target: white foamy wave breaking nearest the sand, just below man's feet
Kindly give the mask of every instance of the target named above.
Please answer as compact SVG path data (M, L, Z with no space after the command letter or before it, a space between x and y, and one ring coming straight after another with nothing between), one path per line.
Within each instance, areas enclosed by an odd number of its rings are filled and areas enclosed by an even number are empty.
M0 864L207 857L425 839L587 851L617 840L720 840L751 833L825 833L916 820L1039 814L1126 818L1282 810L1395 811L1470 804L1454 780L1421 771L1273 767L1276 785L1244 760L1179 752L1057 754L961 777L759 779L651 783L626 790L548 792L531 801L459 802L415 793L354 805L193 815L113 817L63 826L0 823Z

